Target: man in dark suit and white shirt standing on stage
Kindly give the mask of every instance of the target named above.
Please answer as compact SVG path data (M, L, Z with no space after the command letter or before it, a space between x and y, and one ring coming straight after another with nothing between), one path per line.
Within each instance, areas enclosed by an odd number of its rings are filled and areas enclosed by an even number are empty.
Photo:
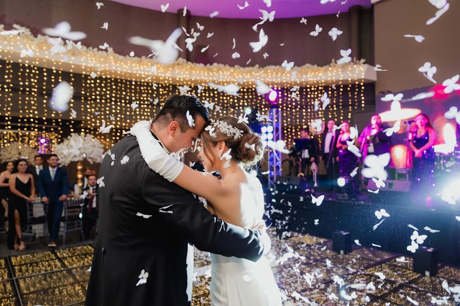
M337 140L339 138L339 131L334 131L335 121L328 121L328 130L321 134L321 148L319 154L319 160L324 161L327 174L327 187L333 189L337 180L338 164L337 158Z

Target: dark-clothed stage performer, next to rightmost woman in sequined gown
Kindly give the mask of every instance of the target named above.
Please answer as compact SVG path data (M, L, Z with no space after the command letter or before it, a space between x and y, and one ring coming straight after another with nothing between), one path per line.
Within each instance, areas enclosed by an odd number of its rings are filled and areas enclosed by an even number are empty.
M358 138L361 144L362 160L368 154L381 155L389 152L390 137L383 132L382 119L375 114L371 117L371 123L367 124Z

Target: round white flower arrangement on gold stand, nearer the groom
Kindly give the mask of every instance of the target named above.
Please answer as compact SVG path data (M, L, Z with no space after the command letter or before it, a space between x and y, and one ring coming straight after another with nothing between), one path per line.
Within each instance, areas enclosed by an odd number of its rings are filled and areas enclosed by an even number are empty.
M54 152L63 166L84 159L93 164L102 162L104 146L93 135L72 133L62 143L56 145Z

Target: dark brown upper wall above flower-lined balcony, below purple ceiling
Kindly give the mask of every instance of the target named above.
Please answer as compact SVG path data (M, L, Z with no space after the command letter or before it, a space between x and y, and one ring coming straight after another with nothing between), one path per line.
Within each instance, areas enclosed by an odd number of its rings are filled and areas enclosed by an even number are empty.
M192 12L193 13L193 12ZM72 25L73 31L83 31L87 38L82 44L98 47L107 42L114 52L128 55L134 51L136 56L147 56L150 50L128 43L130 36L139 35L151 39L165 40L179 26L188 24L188 32L192 28L197 32L196 22L204 25L204 30L194 43L194 50L189 55L181 53L181 57L197 60L202 63L222 63L228 65L249 66L280 65L285 59L293 61L296 66L306 63L327 65L333 58L340 58L340 49L348 49L352 45L352 56L371 57L372 27L369 27L371 10L351 9L350 13L336 15L312 16L307 18L307 24L300 23L301 18L275 19L259 26L268 35L268 44L258 53L252 53L249 42L258 41L259 34L251 29L259 19L225 19L188 16L162 13L159 11L131 7L115 2L106 1L100 10L93 0L0 0L0 22L11 29L14 23L29 28L33 34L41 33L45 27L54 27L58 22L66 20ZM108 31L101 29L102 24L109 23ZM317 37L309 35L316 23L323 27ZM356 28L359 25L359 28ZM343 31L343 34L332 41L328 35L333 27ZM206 38L208 32L214 36ZM236 47L232 50L233 38ZM179 46L185 47L185 34L180 37ZM284 43L284 46L280 46ZM210 45L202 54L202 47ZM358 51L359 49L359 51ZM184 48L184 51L187 50ZM241 58L232 59L231 55L239 52ZM267 59L263 58L268 53ZM214 55L218 53L216 57Z

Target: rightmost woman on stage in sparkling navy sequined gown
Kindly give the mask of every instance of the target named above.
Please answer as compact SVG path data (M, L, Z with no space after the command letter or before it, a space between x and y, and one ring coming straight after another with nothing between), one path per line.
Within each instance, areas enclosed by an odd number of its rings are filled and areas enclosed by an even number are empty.
M426 114L416 117L409 135L412 149L412 195L426 196L434 187L434 137L430 118Z

